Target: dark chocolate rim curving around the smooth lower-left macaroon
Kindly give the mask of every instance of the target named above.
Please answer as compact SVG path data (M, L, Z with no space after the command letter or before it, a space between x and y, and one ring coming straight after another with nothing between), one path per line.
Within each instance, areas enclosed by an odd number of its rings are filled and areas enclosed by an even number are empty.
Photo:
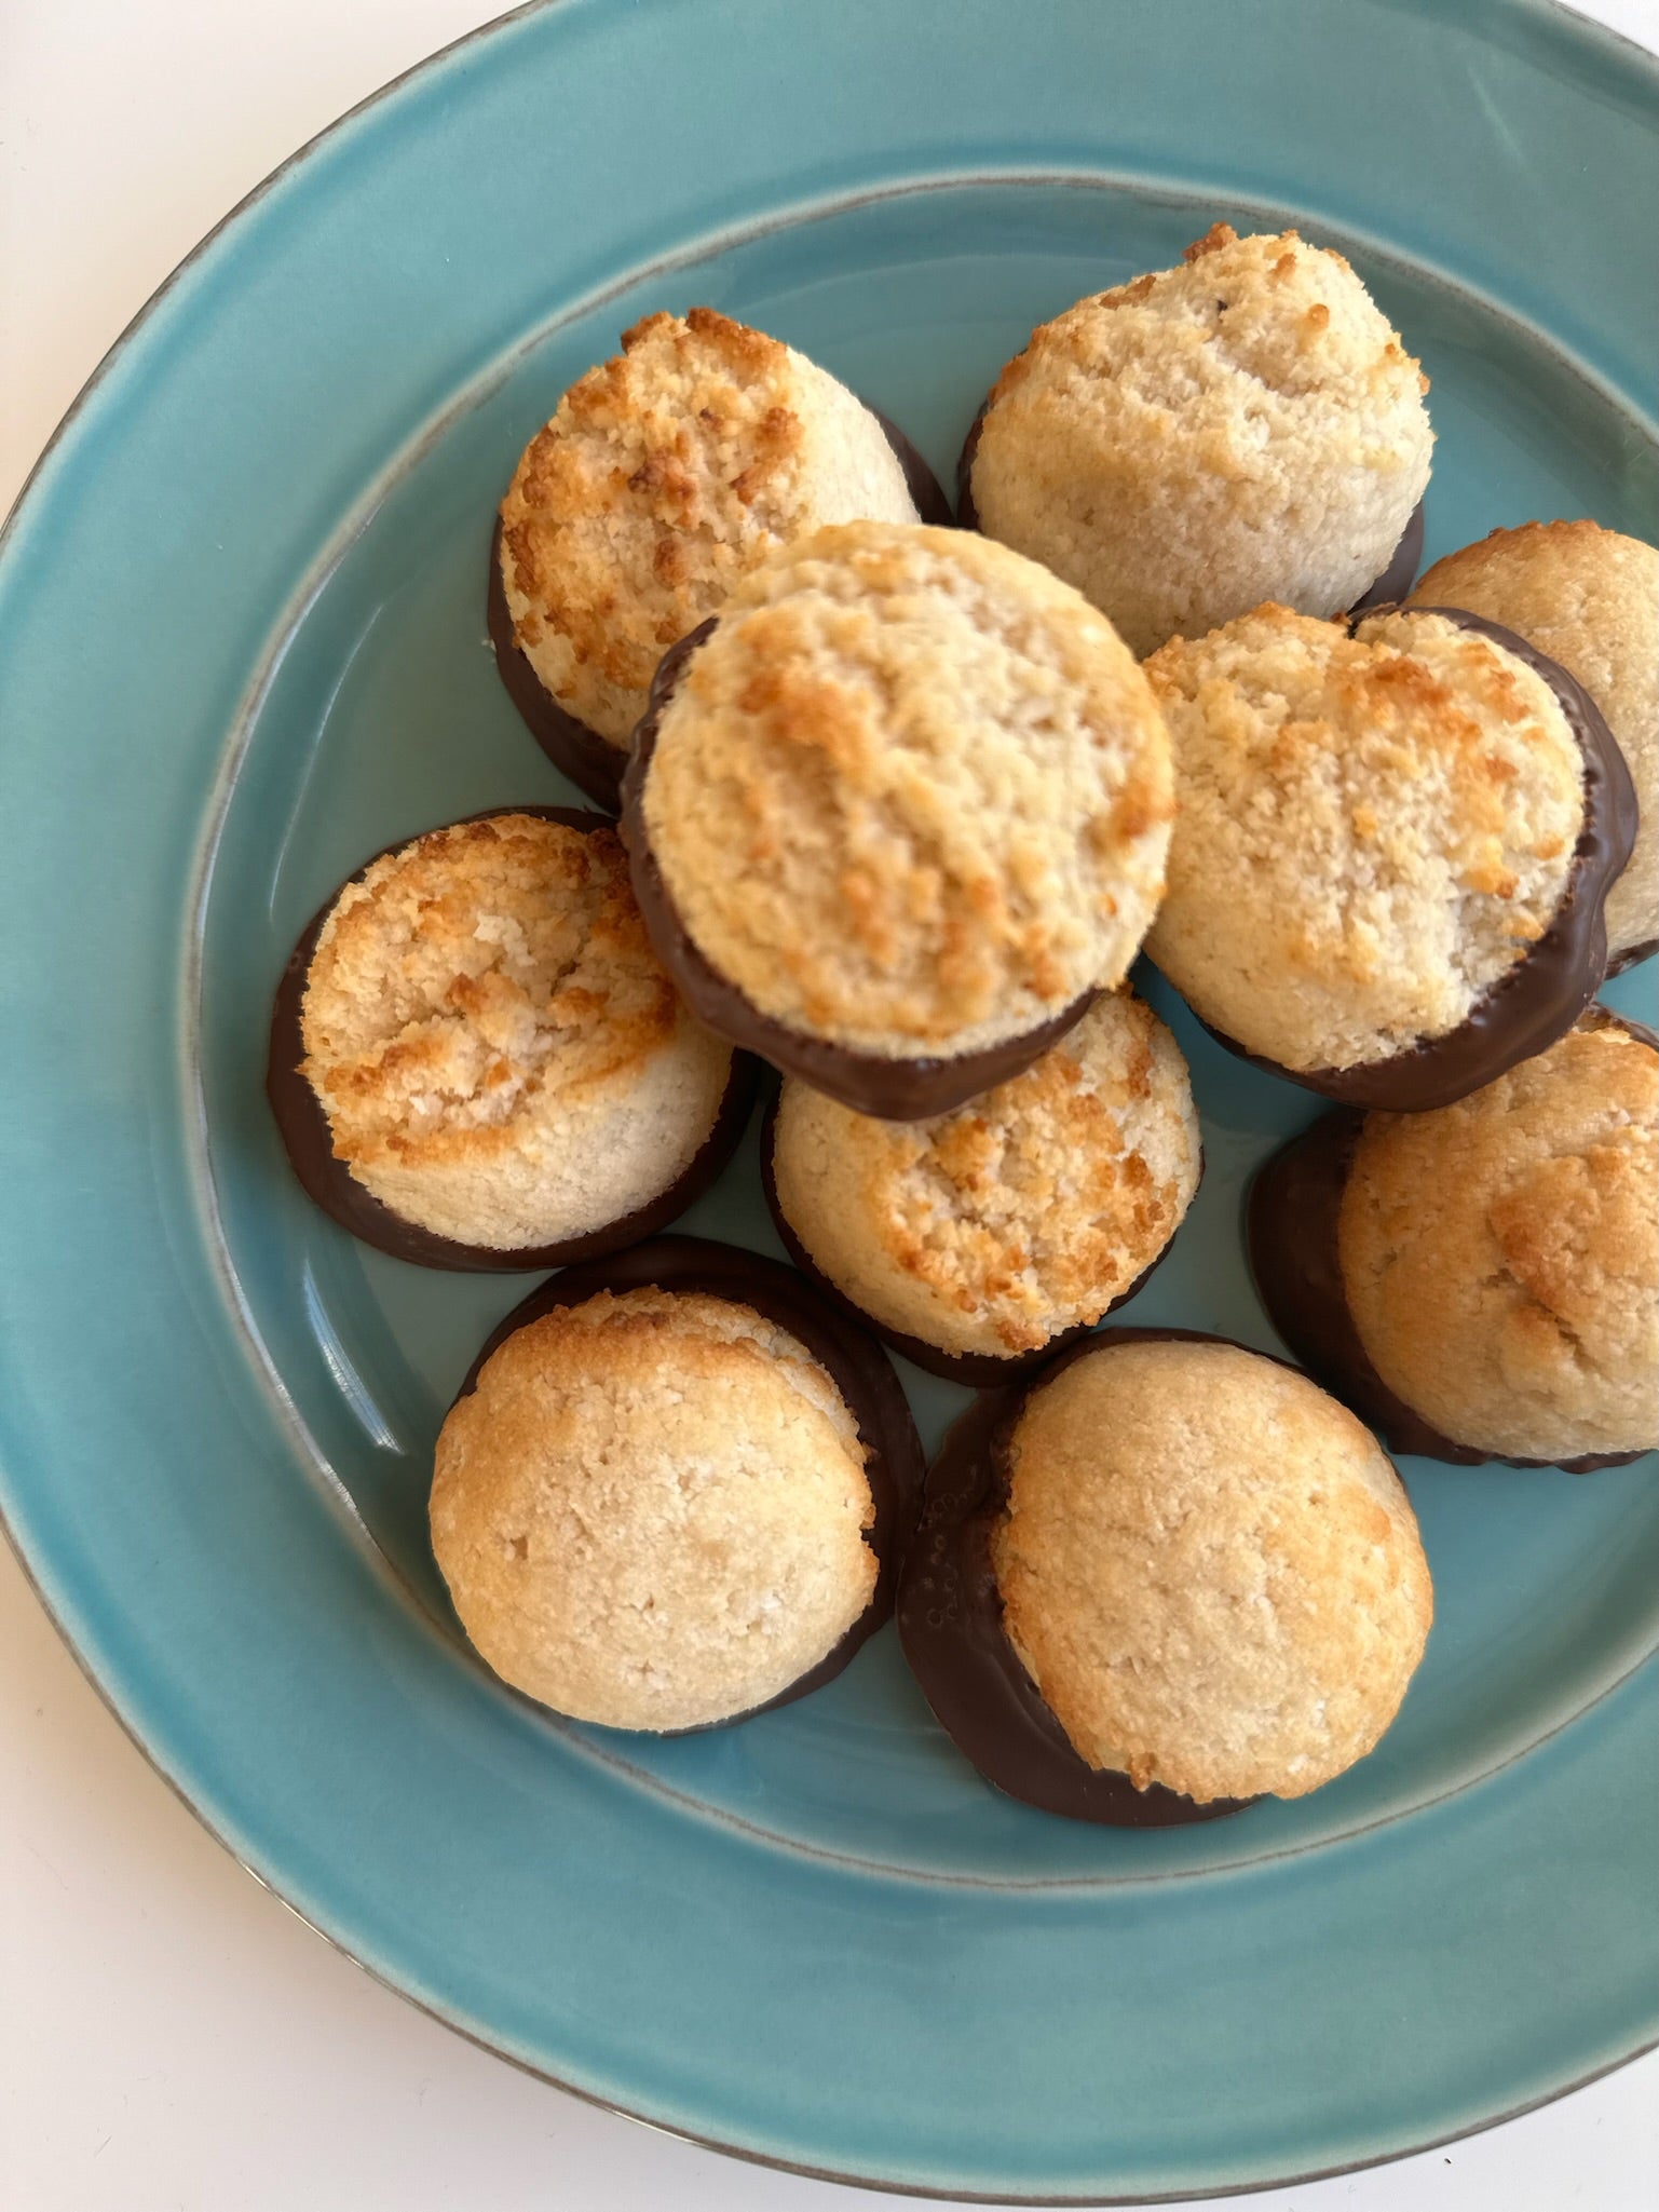
M863 1332L847 1323L818 1298L801 1276L781 1261L765 1259L743 1245L712 1243L706 1237L657 1237L637 1243L628 1252L608 1259L586 1261L566 1267L551 1283L542 1283L484 1338L478 1358L467 1369L456 1405L471 1396L489 1356L518 1329L562 1305L582 1305L597 1292L628 1290L677 1290L703 1292L712 1298L728 1298L752 1307L768 1321L787 1329L812 1358L830 1374L830 1380L847 1402L847 1411L858 1425L865 1444L865 1480L876 1509L876 1520L867 1531L869 1548L876 1553L876 1588L869 1604L843 1635L834 1650L810 1668L787 1690L763 1705L750 1705L723 1721L706 1721L699 1728L670 1728L670 1736L701 1736L710 1728L730 1728L734 1721L752 1721L757 1712L774 1712L792 1705L796 1697L821 1690L847 1666L854 1652L869 1641L894 1610L894 1593L905 1559L905 1551L916 1531L916 1515L922 1500L922 1442L909 1411L898 1376L887 1356L869 1343Z

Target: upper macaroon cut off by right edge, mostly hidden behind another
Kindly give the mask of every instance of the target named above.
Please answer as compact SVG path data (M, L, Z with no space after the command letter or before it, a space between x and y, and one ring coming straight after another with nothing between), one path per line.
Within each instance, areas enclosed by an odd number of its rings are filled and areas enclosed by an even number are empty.
M1659 947L1659 549L1599 522L1524 522L1447 553L1413 599L1517 630L1601 708L1641 799L1630 865L1608 894L1608 960L1644 960Z

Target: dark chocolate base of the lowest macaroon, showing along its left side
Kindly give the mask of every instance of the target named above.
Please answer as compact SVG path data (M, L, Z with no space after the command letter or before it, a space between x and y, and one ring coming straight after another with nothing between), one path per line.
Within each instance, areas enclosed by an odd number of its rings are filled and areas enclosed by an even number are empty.
M989 1783L1068 1820L1175 1827L1219 1820L1254 1798L1181 1796L1091 1767L1042 1699L1002 1628L991 1531L1009 1498L1009 1440L1029 1394L1075 1358L1148 1340L1225 1343L1199 1329L1104 1329L1051 1358L1022 1387L991 1391L962 1413L927 1473L922 1517L898 1590L898 1635L927 1703Z

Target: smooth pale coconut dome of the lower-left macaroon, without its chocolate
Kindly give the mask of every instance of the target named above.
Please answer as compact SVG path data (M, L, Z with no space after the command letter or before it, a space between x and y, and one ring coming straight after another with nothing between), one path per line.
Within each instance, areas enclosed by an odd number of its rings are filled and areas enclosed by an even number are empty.
M467 1635L604 1728L708 1728L790 1692L872 1601L872 1522L825 1367L697 1292L553 1307L438 1436L431 1546Z

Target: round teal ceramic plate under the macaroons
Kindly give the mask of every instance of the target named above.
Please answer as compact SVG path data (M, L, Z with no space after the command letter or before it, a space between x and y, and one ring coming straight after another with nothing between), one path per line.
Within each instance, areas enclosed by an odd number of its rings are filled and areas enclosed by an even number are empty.
M761 2159L1048 2201L1383 2159L1650 2037L1652 1464L1407 1462L1440 1619L1398 1725L1212 1827L993 1796L891 1630L726 1734L568 1728L422 1542L524 1281L347 1241L259 1073L356 860L564 796L484 644L491 507L637 314L794 341L947 471L1035 319L1298 221L1433 376L1431 553L1652 538L1652 95L1517 0L566 0L327 133L100 369L0 560L4 1509L157 1765L442 2020ZM1270 1345L1239 1186L1312 1102L1155 995L1210 1177L1130 1318ZM688 1225L772 1248L752 1155Z

